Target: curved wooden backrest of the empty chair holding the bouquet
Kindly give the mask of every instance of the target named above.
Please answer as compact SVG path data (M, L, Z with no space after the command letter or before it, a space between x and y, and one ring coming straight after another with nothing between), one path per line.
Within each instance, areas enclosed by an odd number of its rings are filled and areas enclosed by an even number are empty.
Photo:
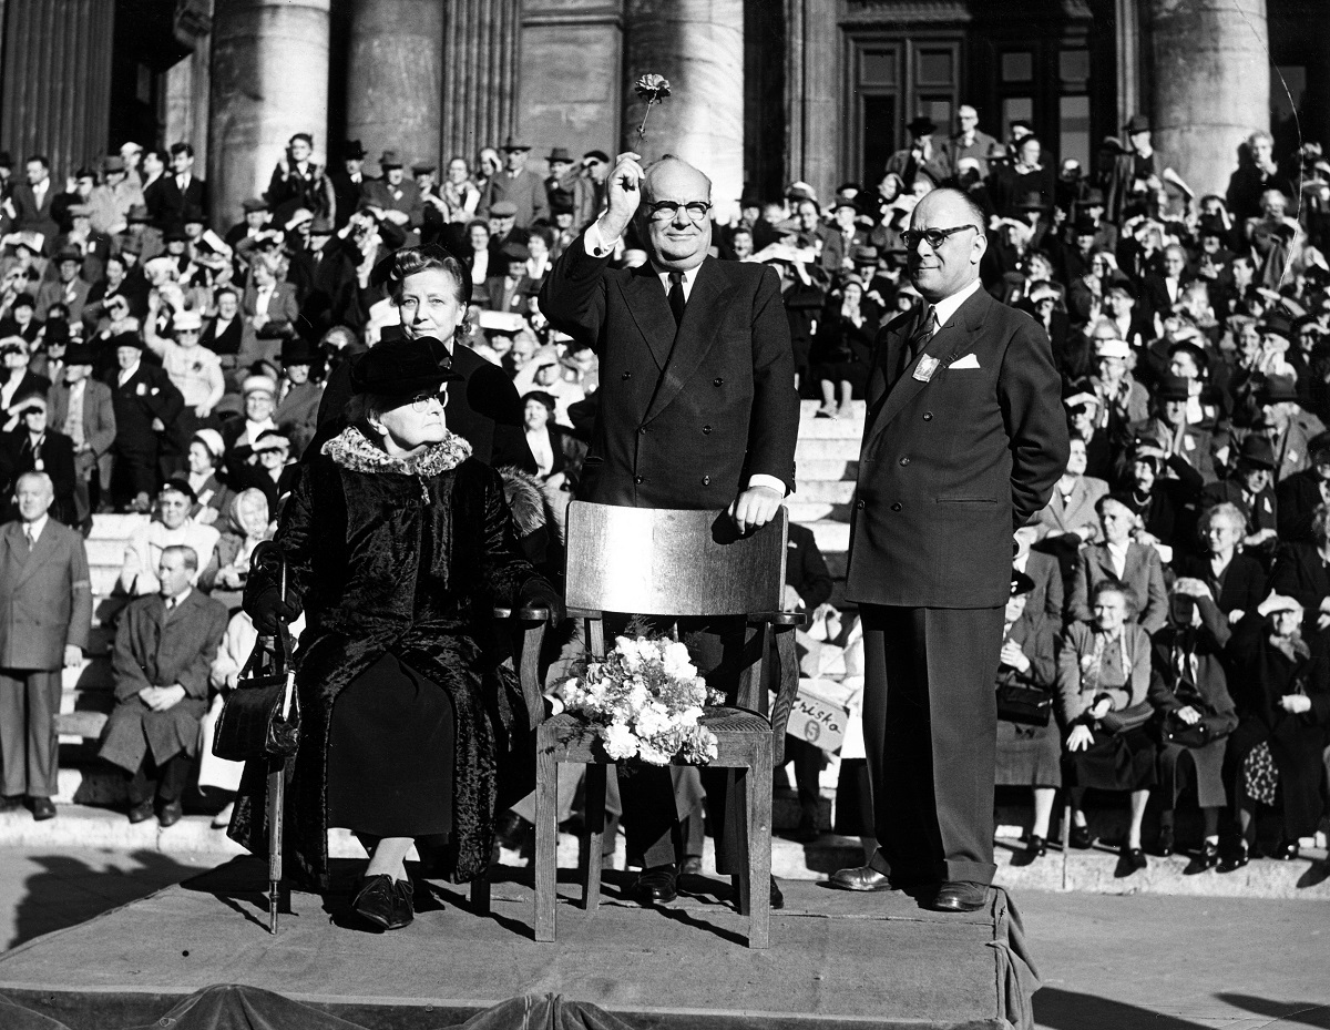
M568 506L569 611L750 615L785 594L787 514L739 536L725 511Z

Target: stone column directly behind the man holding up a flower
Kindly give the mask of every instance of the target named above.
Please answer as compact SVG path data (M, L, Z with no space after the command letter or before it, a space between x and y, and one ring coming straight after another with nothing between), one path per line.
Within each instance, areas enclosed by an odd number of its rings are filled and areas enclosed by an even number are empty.
M743 0L629 0L625 36L624 149L702 169L716 217L729 221L743 189ZM646 73L665 76L672 94L638 140L646 104L633 83Z

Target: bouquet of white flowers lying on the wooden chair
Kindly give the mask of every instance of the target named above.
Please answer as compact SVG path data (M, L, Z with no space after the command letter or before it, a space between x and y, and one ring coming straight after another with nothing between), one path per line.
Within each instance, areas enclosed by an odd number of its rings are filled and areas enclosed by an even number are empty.
M587 721L614 761L705 765L716 735L701 725L702 705L720 704L674 640L620 636L604 661L587 663L559 684L567 709Z

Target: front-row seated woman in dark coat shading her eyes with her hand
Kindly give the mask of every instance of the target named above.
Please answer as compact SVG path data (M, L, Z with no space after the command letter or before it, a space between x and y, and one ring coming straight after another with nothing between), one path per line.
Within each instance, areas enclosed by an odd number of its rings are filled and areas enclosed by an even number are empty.
M1149 701L1160 712L1158 786L1162 793L1157 853L1176 848L1173 812L1188 782L1205 818L1205 841L1186 873L1220 862L1220 809L1224 790L1225 737L1238 724L1229 697L1221 652L1229 623L1200 579L1173 584L1169 624L1154 635Z

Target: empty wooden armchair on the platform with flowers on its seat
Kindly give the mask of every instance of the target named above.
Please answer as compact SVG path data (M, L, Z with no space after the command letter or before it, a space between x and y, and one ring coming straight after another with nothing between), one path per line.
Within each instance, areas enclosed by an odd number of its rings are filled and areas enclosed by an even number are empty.
M738 707L709 708L704 724L729 769L743 856L734 874L739 912L749 917L749 946L766 947L770 928L771 769L783 755L785 724L798 687L795 625L803 616L781 611L785 595L787 515L739 536L724 511L624 508L573 502L568 508L568 613L585 619L593 659L605 655L604 613L653 616L746 616ZM779 693L770 719L762 709L762 661L777 632ZM587 765L587 826L583 841L583 908L600 904L605 767L600 741L572 715L547 720L536 736L536 940L555 940L555 842L559 763ZM738 788L742 788L739 790Z

